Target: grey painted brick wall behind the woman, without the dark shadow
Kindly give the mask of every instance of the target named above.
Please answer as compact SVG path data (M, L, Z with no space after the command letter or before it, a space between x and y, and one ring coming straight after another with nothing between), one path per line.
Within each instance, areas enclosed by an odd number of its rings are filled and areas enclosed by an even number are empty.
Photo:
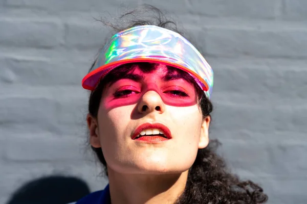
M93 17L149 3L194 37L215 72L211 138L269 203L307 203L307 1L0 0L0 203L42 175L106 181L86 151L81 88L108 29Z

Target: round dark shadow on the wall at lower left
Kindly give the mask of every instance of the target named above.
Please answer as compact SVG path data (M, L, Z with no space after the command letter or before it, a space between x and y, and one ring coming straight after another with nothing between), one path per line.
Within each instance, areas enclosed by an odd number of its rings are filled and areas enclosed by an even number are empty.
M13 193L7 204L64 204L89 193L87 184L76 177L52 175L24 184Z

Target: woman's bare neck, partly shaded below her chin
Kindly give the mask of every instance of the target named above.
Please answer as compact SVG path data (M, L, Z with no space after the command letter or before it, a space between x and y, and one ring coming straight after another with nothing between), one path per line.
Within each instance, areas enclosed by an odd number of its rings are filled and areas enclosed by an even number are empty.
M184 192L188 171L174 174L122 174L108 168L112 204L174 203Z

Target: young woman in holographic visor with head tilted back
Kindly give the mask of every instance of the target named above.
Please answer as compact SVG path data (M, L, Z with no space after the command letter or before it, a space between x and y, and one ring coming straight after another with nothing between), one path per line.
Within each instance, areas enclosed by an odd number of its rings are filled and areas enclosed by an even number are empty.
M109 184L77 204L266 202L215 154L213 71L157 12L156 21L120 29L82 81L91 91L90 144Z

